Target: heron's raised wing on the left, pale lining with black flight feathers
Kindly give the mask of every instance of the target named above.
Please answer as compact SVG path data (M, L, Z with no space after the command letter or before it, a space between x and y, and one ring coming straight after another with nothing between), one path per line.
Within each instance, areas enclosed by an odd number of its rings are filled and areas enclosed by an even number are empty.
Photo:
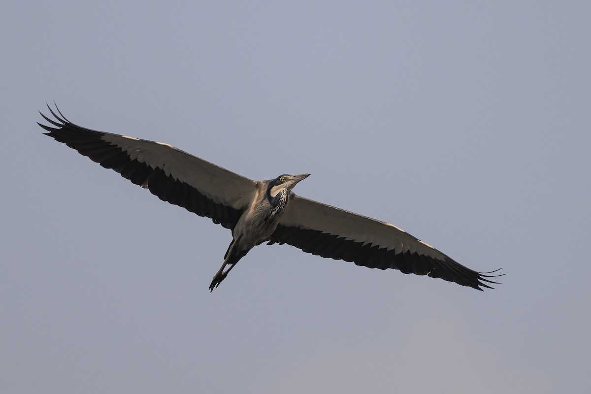
M63 142L105 168L148 188L163 201L233 229L254 198L255 181L162 142L145 141L80 127L51 110L53 126L38 123L46 135Z

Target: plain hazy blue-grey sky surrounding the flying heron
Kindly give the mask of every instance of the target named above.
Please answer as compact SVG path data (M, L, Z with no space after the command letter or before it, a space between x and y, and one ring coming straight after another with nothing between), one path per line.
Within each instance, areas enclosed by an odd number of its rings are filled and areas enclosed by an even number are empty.
M492 2L491 2L492 3ZM4 393L587 393L591 3L4 2ZM252 250L41 132L168 142L391 222L450 282Z

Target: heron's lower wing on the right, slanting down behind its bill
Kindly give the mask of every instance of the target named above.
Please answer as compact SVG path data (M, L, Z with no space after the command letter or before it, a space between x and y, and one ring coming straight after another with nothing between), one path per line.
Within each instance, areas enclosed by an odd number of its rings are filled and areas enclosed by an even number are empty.
M324 258L355 262L369 268L399 269L482 290L493 284L485 275L390 223L316 201L292 196L270 243L287 243ZM493 271L494 272L494 271Z

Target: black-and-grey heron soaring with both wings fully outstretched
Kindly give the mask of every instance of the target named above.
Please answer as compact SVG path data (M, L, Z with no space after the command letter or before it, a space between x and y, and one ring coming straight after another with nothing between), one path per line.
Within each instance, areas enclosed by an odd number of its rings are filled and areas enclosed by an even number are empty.
M252 181L163 142L152 142L80 127L50 108L46 135L76 149L102 167L112 168L163 201L207 216L232 230L222 267L213 276L213 291L256 245L296 246L323 258L355 262L369 268L398 269L482 290L496 284L394 224L370 219L297 196L292 189L310 174L280 175ZM496 270L498 271L498 270Z

